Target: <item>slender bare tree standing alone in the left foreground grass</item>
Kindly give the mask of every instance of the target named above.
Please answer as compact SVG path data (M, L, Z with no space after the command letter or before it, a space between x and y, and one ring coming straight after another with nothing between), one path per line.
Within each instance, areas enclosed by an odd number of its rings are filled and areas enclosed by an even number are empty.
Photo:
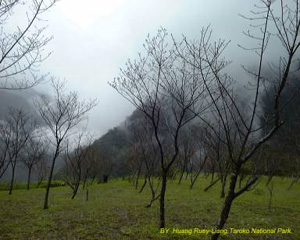
M72 133L72 130L86 119L86 114L97 105L96 100L80 101L76 92L64 93L65 84L52 81L54 90L53 100L40 95L35 101L37 110L43 119L47 130L52 136L54 154L45 194L44 209L48 209L48 198L54 166L57 157L63 150L63 141Z

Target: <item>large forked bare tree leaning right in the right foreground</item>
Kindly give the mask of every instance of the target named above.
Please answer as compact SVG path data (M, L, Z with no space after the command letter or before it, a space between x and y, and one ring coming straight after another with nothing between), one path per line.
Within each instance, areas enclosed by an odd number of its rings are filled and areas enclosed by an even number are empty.
M215 116L216 121L221 122L222 135L220 136L215 132L212 126L211 128L226 145L227 154L232 164L233 170L229 189L216 226L217 229L224 227L233 201L249 190L258 180L257 176L250 177L243 187L236 189L243 166L253 158L257 150L271 139L283 124L281 109L285 103L281 101L281 96L288 84L293 60L300 46L298 38L300 27L299 1L260 0L259 2L260 6L257 6L257 11L252 11L254 16L247 18L251 21L257 21L255 26L259 31L257 33L245 32L246 36L258 42L257 47L248 49L254 51L258 56L257 69L250 71L244 67L245 71L255 78L255 83L251 83L249 86L254 90L250 104L244 106L238 104L238 96L234 94L234 86L231 84L232 79L224 73L227 62L222 58L222 53L228 42L220 40L212 43L211 31L206 28L203 29L199 42L185 40L184 50L180 46L177 48L179 55L201 71L205 88L213 102L213 116ZM268 66L265 55L271 44L270 41L273 39L279 39L284 54L279 57L276 81L273 81L275 97L272 104L274 114L269 119L269 121L272 119L273 125L263 136L258 137L260 127L257 126L257 122L261 117L259 99L264 91L264 82L266 81L263 76L263 66ZM189 58L186 57L186 52L190 53ZM274 67L274 64L270 64L270 66ZM211 89L206 84L211 79L217 88ZM242 110L246 108L250 114L243 114ZM206 119L203 121L210 126ZM211 239L216 240L218 237L219 234L213 234Z

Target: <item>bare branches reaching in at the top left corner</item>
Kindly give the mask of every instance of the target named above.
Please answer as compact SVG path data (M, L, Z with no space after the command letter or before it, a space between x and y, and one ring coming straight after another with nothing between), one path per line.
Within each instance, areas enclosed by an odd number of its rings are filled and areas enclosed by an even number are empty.
M39 75L37 70L49 56L43 48L52 37L44 36L46 27L41 17L55 2L0 1L0 89L26 89L45 79L46 75ZM23 13L21 22L14 18L15 12L18 17Z

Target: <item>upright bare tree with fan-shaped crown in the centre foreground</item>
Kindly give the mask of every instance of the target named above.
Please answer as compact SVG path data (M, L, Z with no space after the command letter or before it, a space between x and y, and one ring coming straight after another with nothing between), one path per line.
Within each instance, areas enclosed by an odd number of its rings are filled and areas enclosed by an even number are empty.
M161 168L160 227L165 227L167 176L179 153L179 134L184 125L206 109L199 71L187 66L168 45L167 32L146 39L146 55L128 61L111 86L150 121L159 149Z

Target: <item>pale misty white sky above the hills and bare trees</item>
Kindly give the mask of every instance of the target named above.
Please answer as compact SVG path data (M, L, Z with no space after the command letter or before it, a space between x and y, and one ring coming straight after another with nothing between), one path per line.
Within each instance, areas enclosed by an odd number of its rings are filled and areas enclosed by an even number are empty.
M147 34L162 26L180 38L197 39L202 27L211 24L214 37L232 40L227 55L240 63L243 51L237 44L249 22L254 1L240 0L61 0L45 14L47 34L54 39L46 50L52 55L42 72L66 79L68 88L82 98L98 98L89 115L89 131L97 136L117 126L134 110L107 82L119 75L128 58L135 58ZM235 68L237 65L233 64ZM47 91L40 85L36 91ZM3 102L2 102L3 103Z

